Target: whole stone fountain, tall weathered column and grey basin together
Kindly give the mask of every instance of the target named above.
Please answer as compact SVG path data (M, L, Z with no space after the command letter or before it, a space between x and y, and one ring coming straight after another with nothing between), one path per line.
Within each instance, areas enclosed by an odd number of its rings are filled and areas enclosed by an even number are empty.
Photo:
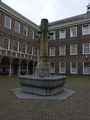
M37 75L19 76L23 92L42 96L51 96L63 91L66 76L50 75L48 56L48 20L41 20L40 57Z

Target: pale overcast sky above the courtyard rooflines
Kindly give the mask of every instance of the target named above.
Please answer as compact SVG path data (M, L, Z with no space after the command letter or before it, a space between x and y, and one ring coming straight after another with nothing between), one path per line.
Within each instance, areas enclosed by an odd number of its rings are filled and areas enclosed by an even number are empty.
M36 24L42 18L49 22L86 12L89 0L2 0Z

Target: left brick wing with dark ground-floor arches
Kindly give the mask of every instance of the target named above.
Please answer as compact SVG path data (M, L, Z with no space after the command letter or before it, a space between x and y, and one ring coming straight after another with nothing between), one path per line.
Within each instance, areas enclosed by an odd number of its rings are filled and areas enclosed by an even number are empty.
M38 26L0 2L0 74L33 74Z

